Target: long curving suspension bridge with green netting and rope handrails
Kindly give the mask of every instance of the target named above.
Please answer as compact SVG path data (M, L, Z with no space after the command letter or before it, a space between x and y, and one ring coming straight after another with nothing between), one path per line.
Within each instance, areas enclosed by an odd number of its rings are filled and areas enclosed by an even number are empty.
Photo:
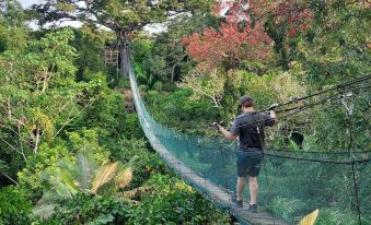
M185 181L218 208L228 210L241 224L297 224L316 209L320 209L320 215L329 216L331 224L371 224L370 151L325 153L266 150L258 178L259 212L251 213L246 205L236 208L230 201L236 182L236 145L219 138L178 133L154 121L140 96L129 58L126 66L136 110L149 143ZM344 87L338 85L326 92L341 91ZM356 93L369 87L350 90ZM323 93L290 99L281 105L320 94ZM280 112L291 116L331 100L346 104L343 100L345 97L346 94L329 96Z

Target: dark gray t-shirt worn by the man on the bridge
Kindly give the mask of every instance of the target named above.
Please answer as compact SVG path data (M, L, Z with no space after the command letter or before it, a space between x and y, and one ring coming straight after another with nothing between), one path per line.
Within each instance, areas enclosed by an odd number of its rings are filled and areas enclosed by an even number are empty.
M264 145L264 128L273 127L275 119L264 112L248 111L239 115L233 121L230 133L239 135L239 149L245 151L262 151Z

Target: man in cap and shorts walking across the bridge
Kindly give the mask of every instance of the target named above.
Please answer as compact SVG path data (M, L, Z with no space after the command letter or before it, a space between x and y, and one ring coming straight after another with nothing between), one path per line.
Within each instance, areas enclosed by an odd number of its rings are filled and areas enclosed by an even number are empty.
M256 112L253 98L245 95L240 98L239 105L243 114L235 118L231 131L225 130L218 122L213 123L228 140L239 139L236 152L237 185L236 193L232 193L231 201L240 208L243 206L243 191L247 177L250 187L248 211L254 213L257 213L258 183L256 177L259 175L263 162L264 128L275 125L276 114L273 109L277 106L277 104L270 106L268 114Z

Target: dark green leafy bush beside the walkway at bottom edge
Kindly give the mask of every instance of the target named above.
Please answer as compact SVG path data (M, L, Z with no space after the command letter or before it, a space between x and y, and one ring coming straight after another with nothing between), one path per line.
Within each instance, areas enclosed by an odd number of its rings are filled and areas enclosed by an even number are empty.
M156 190L135 206L129 224L229 224L195 189L177 178L153 176L147 185Z

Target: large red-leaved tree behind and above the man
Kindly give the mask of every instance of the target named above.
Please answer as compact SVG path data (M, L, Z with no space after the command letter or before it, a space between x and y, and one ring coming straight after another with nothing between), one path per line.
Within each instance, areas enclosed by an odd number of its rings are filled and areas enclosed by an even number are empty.
M219 2L213 9L217 16L224 16L220 28L205 28L184 37L182 44L196 62L217 67L222 62L240 60L263 61L271 52L273 40L259 22L254 25L248 15L247 1ZM222 12L225 12L224 15Z

